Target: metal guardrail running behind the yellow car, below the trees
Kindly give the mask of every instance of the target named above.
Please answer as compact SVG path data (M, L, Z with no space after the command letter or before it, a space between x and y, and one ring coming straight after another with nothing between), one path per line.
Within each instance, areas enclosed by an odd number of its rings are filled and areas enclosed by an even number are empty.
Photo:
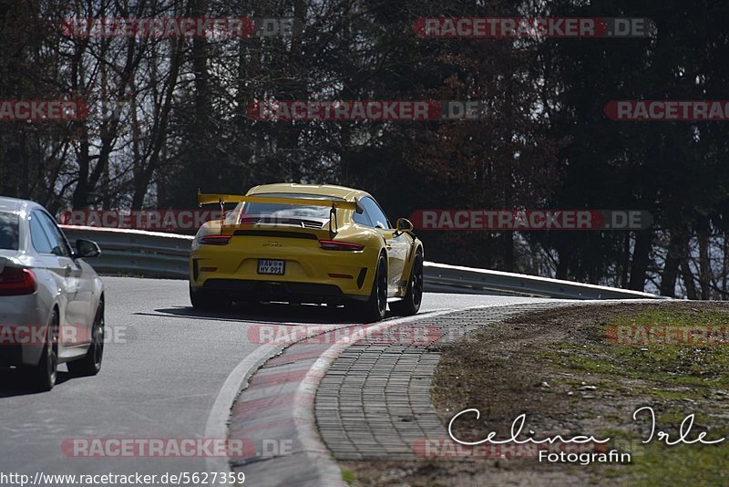
M91 264L101 274L188 278L190 235L87 226L61 227L71 242L87 238L98 243L101 255ZM424 277L426 291L430 292L564 299L667 299L604 285L432 262L425 263Z

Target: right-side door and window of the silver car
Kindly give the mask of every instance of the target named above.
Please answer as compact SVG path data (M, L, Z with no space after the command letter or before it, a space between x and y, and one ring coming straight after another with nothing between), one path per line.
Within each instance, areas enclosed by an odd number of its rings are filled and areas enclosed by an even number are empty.
M51 254L66 285L66 320L61 320L58 340L67 347L87 343L90 337L90 300L93 283L85 283L80 264L73 259L66 237L48 213L34 212L51 244Z

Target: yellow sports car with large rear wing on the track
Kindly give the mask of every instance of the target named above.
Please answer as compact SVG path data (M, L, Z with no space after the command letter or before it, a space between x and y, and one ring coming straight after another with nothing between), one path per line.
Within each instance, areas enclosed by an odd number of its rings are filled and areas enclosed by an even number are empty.
M245 196L198 193L199 204L237 202L204 223L190 253L192 306L232 301L326 303L364 322L415 315L423 297L423 244L405 218L390 224L367 192L266 184Z

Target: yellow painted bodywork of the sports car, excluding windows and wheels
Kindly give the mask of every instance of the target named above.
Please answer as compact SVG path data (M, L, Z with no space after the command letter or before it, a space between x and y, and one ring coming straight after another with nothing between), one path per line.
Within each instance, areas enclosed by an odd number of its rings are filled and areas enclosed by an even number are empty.
M385 254L387 295L403 297L413 257L417 249L422 254L422 244L411 233L355 222L357 202L364 198L372 197L367 192L343 186L295 183L256 186L242 196L199 194L198 201L202 204L238 204L235 210L226 213L224 220L210 221L200 227L190 253L190 288L231 293L241 299L364 301L370 296L379 256ZM313 223L307 217L301 217L307 223L299 222L299 217L270 222L252 218L249 222L247 209L255 203L291 204L292 208L297 203L310 207L312 212L320 208L321 212ZM330 212L335 213L335 218L331 218ZM330 232L330 220L334 233ZM318 223L322 224L317 228ZM221 234L231 235L227 244L203 244L204 237ZM361 245L361 248L327 250L321 241ZM261 274L262 261L282 261L283 274Z

